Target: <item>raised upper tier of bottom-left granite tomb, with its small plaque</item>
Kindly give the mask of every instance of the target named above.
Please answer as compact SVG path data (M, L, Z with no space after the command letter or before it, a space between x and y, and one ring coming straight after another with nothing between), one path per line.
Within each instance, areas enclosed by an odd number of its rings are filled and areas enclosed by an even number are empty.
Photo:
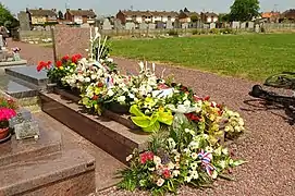
M40 127L40 138L16 140L15 135L11 140L0 145L0 168L34 157L46 156L61 151L61 134L56 131L47 132Z

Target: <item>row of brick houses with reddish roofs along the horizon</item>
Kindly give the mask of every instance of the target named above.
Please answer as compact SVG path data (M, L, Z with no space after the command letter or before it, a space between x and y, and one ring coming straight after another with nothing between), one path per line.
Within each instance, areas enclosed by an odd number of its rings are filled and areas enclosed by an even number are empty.
M94 24L97 15L93 9L89 10L70 10L66 9L65 13L57 12L56 9L26 9L26 13L32 25L39 25L46 23L65 23L65 24ZM180 12L175 11L133 11L133 10L119 10L115 19L120 20L122 24L126 22L134 23L157 23L168 21L181 23L202 22L216 23L219 21L219 15L213 12L190 12L186 8ZM261 17L267 22L281 22L282 20L295 21L295 10L291 9L283 13L280 12L265 12Z

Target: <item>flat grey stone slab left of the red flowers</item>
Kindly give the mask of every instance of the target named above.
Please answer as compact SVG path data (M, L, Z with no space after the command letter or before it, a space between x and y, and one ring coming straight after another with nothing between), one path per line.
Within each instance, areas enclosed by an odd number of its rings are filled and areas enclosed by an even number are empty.
M45 88L48 82L47 73L45 71L37 72L35 65L8 68L5 73L40 88Z

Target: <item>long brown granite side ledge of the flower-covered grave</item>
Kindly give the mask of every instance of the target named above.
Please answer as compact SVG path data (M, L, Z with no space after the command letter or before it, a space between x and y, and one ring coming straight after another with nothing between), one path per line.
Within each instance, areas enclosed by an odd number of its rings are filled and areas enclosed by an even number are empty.
M81 106L62 99L60 95L40 93L40 100L42 111L124 163L134 148L147 147L148 134L103 117L87 114Z

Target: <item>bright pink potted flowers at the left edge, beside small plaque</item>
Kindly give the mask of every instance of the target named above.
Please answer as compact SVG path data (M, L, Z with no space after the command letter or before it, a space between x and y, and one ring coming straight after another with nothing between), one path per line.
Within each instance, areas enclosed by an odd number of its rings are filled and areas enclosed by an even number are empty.
M9 120L16 115L16 112L10 108L0 108L0 142L10 136Z

